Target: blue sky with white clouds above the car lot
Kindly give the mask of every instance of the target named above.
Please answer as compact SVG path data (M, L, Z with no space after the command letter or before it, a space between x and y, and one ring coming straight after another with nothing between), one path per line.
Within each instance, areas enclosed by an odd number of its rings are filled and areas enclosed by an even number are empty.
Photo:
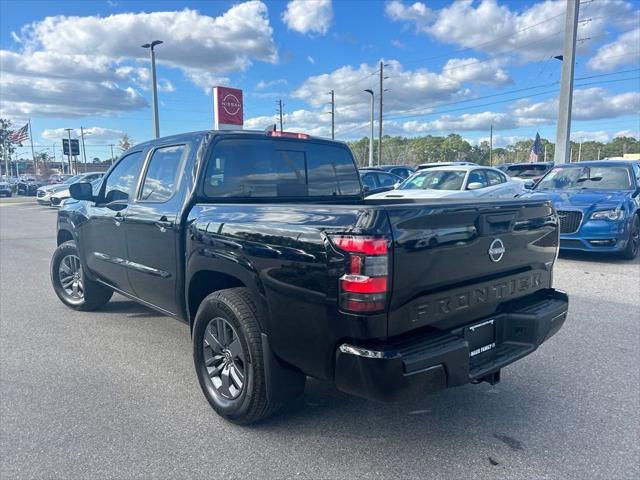
M555 139L564 1L0 2L0 117L31 119L37 151L65 128L108 158L123 132L152 137L156 47L160 134L212 128L211 87L244 90L247 129L368 135L384 64L385 134L458 133L494 145ZM640 1L582 0L572 138L640 136ZM377 134L377 124L376 124ZM26 150L24 151L26 154Z

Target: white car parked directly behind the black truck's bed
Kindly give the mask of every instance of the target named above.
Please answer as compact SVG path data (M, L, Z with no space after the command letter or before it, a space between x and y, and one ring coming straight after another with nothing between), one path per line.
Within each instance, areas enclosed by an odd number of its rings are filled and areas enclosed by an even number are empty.
M526 183L512 180L497 168L458 165L418 170L395 190L371 198L514 198L526 191Z

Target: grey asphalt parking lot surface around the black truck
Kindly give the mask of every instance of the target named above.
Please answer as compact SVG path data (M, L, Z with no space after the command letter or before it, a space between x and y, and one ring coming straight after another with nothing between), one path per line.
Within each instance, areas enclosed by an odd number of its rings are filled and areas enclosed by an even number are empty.
M123 297L67 309L54 248L54 210L0 202L3 480L640 477L638 260L561 256L569 318L496 386L387 405L310 380L241 428L202 396L186 325Z

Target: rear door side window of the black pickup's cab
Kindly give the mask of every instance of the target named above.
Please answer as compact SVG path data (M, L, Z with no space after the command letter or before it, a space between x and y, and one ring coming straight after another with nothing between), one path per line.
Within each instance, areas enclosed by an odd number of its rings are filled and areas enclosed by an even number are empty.
M153 152L142 185L140 200L166 202L175 192L180 164L187 152L185 145L158 148Z

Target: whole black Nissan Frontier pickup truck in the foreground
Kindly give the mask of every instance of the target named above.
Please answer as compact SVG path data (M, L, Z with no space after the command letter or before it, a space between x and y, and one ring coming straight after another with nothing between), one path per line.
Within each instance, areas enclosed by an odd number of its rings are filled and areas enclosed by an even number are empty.
M71 195L56 294L94 310L118 292L188 323L207 400L240 424L307 376L385 401L493 384L567 315L549 201L367 200L339 142L176 135Z

